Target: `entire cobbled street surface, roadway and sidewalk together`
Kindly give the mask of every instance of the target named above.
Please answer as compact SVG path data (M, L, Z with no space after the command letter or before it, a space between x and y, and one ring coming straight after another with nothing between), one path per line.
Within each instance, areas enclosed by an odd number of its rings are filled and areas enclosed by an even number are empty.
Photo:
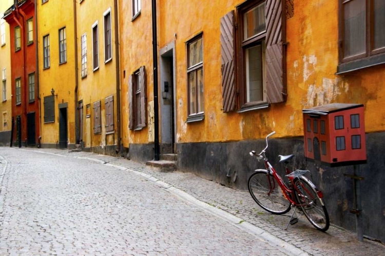
M0 148L0 155L8 162L0 176L2 255L385 251L384 245L368 239L360 243L355 233L336 226L317 231L303 216L283 230L291 212L269 214L247 191L190 173L68 150Z

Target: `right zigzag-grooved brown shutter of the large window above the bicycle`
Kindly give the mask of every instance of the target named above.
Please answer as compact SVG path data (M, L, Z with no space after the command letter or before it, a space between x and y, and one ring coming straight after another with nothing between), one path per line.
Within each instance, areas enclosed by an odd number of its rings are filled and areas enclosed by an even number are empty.
M266 0L266 91L267 102L286 101L284 0Z

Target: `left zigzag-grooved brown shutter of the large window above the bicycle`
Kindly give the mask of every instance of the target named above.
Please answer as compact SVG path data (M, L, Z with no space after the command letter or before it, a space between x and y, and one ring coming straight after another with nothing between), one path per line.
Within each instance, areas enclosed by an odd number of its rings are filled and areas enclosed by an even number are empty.
M235 32L234 11L221 18L221 61L222 61L222 108L223 112L235 110Z

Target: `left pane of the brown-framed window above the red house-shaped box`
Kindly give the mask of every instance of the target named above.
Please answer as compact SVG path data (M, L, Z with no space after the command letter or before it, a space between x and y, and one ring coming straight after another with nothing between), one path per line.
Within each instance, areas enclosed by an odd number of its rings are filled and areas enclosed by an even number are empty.
M353 0L343 5L344 9L344 57L366 51L365 0Z

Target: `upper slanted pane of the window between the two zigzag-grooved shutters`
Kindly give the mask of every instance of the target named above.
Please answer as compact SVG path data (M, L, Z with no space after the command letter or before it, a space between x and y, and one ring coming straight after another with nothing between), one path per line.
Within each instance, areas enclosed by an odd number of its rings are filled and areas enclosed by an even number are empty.
M244 38L250 38L266 30L265 3L246 12L244 18Z

